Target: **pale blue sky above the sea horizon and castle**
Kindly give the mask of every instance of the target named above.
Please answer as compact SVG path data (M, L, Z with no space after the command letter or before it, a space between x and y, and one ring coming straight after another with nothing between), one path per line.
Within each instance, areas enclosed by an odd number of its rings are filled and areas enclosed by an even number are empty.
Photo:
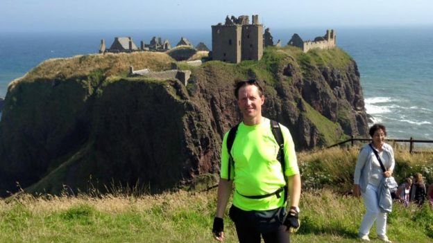
M0 31L209 28L226 15L272 28L433 25L431 0L1 0Z

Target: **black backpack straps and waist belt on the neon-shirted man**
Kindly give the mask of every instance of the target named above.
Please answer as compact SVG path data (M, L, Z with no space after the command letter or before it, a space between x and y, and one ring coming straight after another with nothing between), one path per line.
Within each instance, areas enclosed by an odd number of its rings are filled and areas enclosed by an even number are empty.
M237 127L239 127L239 123L237 125L235 125L235 127L232 127L230 129L230 132L228 132L228 136L227 136L227 151L228 151L228 155L229 155L229 159L228 159L228 181L230 181L230 170L231 170L231 165L232 163L235 163L235 161L233 160L232 157L232 146L233 143L235 142L235 137L237 134ZM265 194L265 195L257 195L257 196L246 196L246 195L241 195L239 192L238 194L243 196L243 197L248 197L251 199L262 199L265 197L271 197L273 195L275 195L276 197L280 198L280 192L282 192L284 190L285 194L284 194L284 203L287 201L287 178L285 176L285 171L286 171L286 163L285 163L285 155L284 155L284 138L282 137L282 132L281 132L281 127L280 124L278 122L276 122L275 120L271 120L271 130L272 130L272 134L275 138L275 141L277 141L278 143L278 147L280 147L280 149L278 150L278 155L277 155L277 159L278 161L280 161L281 164L281 168L282 168L282 174L285 178L286 184L285 186L283 186L282 188L279 188L278 190L276 190L275 192L269 193L269 194ZM283 203L283 204L284 204Z

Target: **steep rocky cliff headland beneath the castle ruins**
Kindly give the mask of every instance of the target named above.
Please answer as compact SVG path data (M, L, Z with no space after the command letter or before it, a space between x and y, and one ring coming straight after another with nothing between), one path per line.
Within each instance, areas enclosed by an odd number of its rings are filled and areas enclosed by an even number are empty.
M118 62L157 71L173 60L148 53L54 60L10 85L0 123L1 195L17 190L15 181L30 192L65 185L159 192L217 173L223 134L240 120L232 91L239 79L264 83L264 115L289 127L297 150L367 131L356 63L338 48L268 48L260 62L207 62L187 87L128 78ZM70 71L74 65L88 70Z

